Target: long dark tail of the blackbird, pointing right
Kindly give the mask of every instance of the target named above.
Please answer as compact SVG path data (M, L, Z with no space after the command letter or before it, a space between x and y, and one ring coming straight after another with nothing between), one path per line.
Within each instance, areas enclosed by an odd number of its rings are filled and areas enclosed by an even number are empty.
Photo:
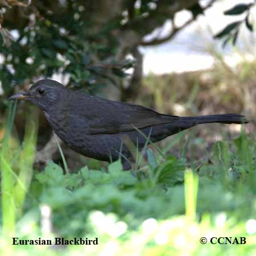
M192 122L194 125L200 123L249 123L244 115L238 114L200 115L199 117L182 117L182 120Z

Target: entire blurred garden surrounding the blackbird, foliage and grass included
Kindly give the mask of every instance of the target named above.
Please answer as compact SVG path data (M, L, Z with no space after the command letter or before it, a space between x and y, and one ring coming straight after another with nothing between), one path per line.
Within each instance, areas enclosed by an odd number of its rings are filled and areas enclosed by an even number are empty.
M2 250L255 255L255 15L253 0L0 1ZM124 173L66 147L31 104L8 101L46 78L160 113L251 122L174 135ZM14 235L100 244L11 246ZM220 236L248 242L199 242Z

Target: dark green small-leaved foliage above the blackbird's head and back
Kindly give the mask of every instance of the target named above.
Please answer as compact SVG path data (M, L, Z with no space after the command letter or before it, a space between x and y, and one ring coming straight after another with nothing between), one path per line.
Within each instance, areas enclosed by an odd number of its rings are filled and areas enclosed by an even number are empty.
M100 31L92 32L93 24L84 19L86 10L79 11L81 4L78 2L60 16L50 11L44 13L39 2L36 2L36 7L39 16L31 22L20 21L23 26L15 28L16 39L9 46L0 36L0 52L4 57L0 65L0 80L7 96L16 85L30 83L37 77L51 77L54 73L69 75L69 85L95 93L101 88L102 81L114 81L112 76L115 74L124 77L124 71L133 65L128 60L119 65L113 59L109 64L114 68L110 68L109 73L109 67L100 63L113 57L117 51L118 40L112 35L112 30L119 26L119 21L113 24L110 20ZM27 9L31 15L34 11ZM9 23L5 25L13 28ZM97 56L98 63L92 61L92 56Z

